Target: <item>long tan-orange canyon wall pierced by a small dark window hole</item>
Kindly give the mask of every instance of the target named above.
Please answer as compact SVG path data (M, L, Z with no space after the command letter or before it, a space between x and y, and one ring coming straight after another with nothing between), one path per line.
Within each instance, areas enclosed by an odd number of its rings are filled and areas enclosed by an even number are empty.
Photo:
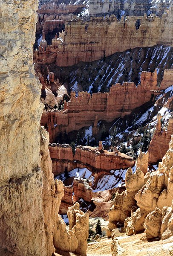
M140 20L140 25L137 25ZM137 23L136 23L137 22ZM79 61L91 62L135 47L156 44L173 46L173 6L162 18L151 16L92 17L89 21L65 22L62 41L35 51L35 61L43 64L56 61L66 67Z

